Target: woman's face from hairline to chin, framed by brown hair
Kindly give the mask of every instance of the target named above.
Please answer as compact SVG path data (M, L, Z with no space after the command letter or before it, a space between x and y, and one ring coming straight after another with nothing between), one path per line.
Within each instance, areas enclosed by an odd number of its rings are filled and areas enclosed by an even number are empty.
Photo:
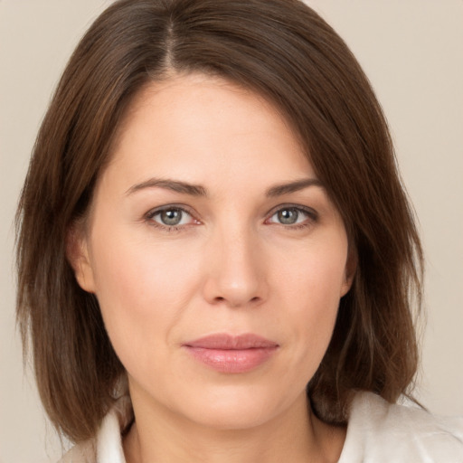
M73 260L144 410L242 429L301 410L350 286L344 224L268 102L142 90Z

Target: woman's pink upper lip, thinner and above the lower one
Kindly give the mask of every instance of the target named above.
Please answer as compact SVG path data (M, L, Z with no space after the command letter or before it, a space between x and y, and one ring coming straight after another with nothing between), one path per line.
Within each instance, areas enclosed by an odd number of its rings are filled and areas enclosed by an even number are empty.
M278 347L278 343L269 341L260 335L246 333L243 335L216 334L207 335L194 341L184 343L187 347L201 347L203 349L218 350L244 350L244 349L264 349Z

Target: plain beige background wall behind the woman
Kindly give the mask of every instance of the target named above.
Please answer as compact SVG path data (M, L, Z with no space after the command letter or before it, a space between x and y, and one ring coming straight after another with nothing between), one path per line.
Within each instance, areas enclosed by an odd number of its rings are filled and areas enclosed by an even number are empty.
M15 204L33 139L103 0L0 0L0 463L60 453L14 331ZM419 399L463 414L463 1L311 0L364 66L390 121L428 265Z

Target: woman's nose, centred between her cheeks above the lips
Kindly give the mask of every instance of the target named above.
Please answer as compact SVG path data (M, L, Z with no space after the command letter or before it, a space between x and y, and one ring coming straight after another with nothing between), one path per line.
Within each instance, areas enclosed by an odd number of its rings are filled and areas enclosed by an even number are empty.
M256 307L268 296L265 259L249 231L217 233L205 253L203 296L212 305Z

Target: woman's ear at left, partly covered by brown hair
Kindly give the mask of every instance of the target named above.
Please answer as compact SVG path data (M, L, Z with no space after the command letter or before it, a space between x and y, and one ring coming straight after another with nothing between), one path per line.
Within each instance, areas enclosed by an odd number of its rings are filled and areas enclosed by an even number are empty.
M95 278L91 267L88 237L80 222L73 223L66 235L66 257L80 288L94 293Z

